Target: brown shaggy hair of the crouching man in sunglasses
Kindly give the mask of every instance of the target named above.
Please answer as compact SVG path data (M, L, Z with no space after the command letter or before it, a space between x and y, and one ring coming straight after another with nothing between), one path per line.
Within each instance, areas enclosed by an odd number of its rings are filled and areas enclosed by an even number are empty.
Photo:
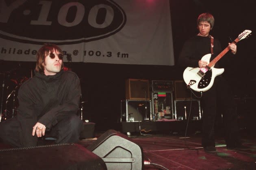
M58 46L50 43L44 44L43 47L41 47L37 51L37 65L35 68L36 72L39 72L40 74L44 74L43 64L45 62L46 56L49 55L50 53L54 53L54 51L59 51L59 53L62 54L62 51ZM62 62L61 69L63 69L63 62Z

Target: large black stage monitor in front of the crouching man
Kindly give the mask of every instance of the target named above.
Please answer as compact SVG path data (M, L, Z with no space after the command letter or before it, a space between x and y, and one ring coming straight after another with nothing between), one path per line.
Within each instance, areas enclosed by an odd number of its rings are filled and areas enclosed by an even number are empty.
M95 153L80 144L0 149L1 170L106 170Z

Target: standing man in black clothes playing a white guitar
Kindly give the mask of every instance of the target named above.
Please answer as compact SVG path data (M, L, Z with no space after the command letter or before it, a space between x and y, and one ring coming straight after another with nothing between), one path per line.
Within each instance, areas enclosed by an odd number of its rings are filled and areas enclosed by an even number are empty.
M201 60L204 55L212 53L211 60L213 60L221 53L219 40L209 35L210 30L213 29L213 25L213 15L210 13L202 13L199 15L197 19L197 29L199 33L185 42L178 60L181 66L202 68L208 64ZM211 45L211 42L213 45ZM211 46L213 47L212 49ZM228 48L231 50L231 53L227 55L236 54L235 44L229 43ZM217 64L215 68L218 68ZM234 110L234 96L228 83L221 75L215 78L213 87L203 92L201 100L204 110L202 126L202 146L204 147L204 151L216 151L214 125L217 115L217 104L223 114L227 148L235 149L242 147L239 138L237 115Z

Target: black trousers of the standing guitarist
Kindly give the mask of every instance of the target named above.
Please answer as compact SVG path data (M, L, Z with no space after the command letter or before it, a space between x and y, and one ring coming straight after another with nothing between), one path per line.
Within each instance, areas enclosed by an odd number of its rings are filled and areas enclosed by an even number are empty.
M226 80L216 77L213 87L203 92L202 146L215 146L215 120L217 112L223 115L224 137L227 147L241 144L234 95ZM218 108L218 109L217 109Z

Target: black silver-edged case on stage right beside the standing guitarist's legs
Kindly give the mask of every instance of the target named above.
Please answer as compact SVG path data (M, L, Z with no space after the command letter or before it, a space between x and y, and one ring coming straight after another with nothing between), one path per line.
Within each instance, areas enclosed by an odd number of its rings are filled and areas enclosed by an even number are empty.
M200 100L175 100L174 106L175 118L178 120L200 120L202 117Z

